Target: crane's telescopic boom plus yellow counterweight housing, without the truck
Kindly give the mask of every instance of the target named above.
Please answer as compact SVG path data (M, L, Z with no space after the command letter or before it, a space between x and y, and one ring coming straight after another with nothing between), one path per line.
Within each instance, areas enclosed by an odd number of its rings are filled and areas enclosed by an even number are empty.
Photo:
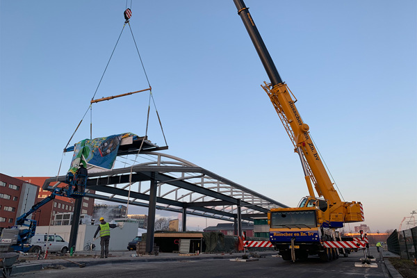
M342 202L341 197L335 190L329 174L325 169L318 150L311 139L309 125L302 120L300 113L295 106L295 98L288 86L282 81L281 76L275 67L274 62L266 49L265 44L259 34L254 19L249 13L249 9L243 3L243 0L234 0L238 15L245 24L247 33L254 44L256 51L265 71L269 76L270 84L262 85L267 92L270 100L277 111L281 122L291 138L295 147L295 152L300 156L302 168L304 170L304 179L309 189L310 199L316 199L314 189L318 197L324 197L327 201L328 208L325 208L325 219L329 220L332 227L343 227L343 222L360 222L363 221L363 211L357 202ZM307 205L307 203L305 203Z

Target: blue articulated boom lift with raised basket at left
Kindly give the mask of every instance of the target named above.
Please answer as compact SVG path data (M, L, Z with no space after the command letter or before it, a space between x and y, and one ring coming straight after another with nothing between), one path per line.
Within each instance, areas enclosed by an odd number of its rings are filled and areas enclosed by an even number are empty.
M40 207L55 199L56 196L69 197L73 199L82 198L85 196L85 186L87 185L87 175L67 173L65 183L67 186L58 187L60 182L54 186L51 195L42 199L37 204L34 204L26 213L16 218L15 225L8 229L1 231L1 245L2 249L12 249L15 252L33 252L38 253L42 250L42 246L37 244L36 240L31 240L35 236L35 231L38 222L28 218L29 215L37 211ZM46 238L46 236L45 236ZM51 236L49 238L54 238ZM49 238L47 240L49 240ZM61 251L65 250L61 248ZM66 247L65 252L68 250Z

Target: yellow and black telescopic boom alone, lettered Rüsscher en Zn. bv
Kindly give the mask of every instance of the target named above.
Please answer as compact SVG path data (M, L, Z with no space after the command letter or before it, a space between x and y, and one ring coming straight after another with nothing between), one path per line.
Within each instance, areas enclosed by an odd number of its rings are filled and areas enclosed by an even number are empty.
M312 180L319 197L322 196L327 199L330 206L340 203L341 198L334 189L316 146L309 135L309 125L303 122L288 86L279 76L275 63L261 38L258 28L256 28L252 15L250 15L249 8L245 6L243 0L234 0L234 3L270 79L270 84L265 84L263 88L268 93L277 113L281 114L280 117L284 126L286 125L288 129L291 129L292 135L290 135L290 138L293 140L295 152L300 154L301 151L300 158L302 159L303 168L306 168L304 175L309 188L309 195L314 197L311 186Z

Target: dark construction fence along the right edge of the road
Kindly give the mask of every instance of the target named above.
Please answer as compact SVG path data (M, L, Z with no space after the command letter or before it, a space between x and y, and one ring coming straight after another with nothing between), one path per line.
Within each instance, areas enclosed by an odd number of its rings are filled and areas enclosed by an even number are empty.
M416 259L417 227L404 231L393 231L386 239L388 251L397 254L401 259Z

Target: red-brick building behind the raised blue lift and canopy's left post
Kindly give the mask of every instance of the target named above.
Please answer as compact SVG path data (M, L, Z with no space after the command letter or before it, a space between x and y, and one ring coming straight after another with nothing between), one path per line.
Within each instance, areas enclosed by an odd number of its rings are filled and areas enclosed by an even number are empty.
M39 191L36 197L36 203L42 201L42 199L51 195L48 190L43 190L42 186L46 179L49 177L16 177L27 183L32 183L38 186ZM92 191L92 193L94 193ZM38 211L33 213L33 219L38 221L38 226L48 226L49 220L51 225L54 225L54 218L56 213L71 213L74 212L75 199L56 196L54 200L40 207ZM83 204L81 206L81 214L92 215L94 208L94 199L89 197L83 197ZM52 215L51 215L52 213Z

